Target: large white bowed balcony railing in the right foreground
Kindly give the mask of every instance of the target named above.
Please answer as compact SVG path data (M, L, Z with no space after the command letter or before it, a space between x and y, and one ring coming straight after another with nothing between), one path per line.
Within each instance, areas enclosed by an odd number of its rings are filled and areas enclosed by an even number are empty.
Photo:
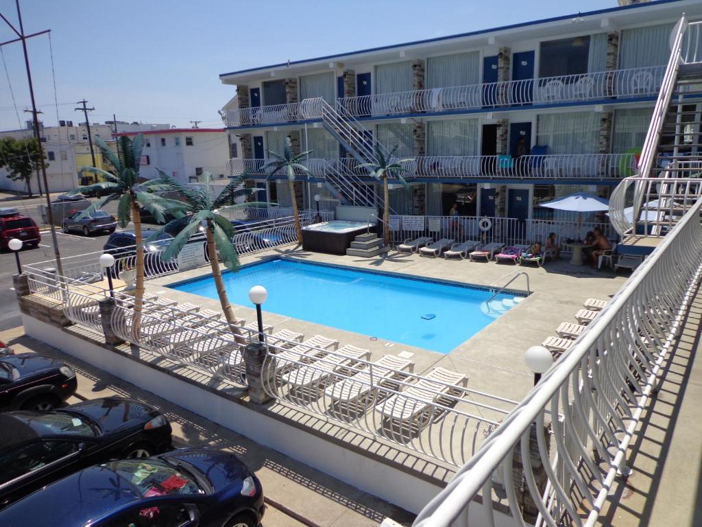
M701 209L698 200L420 512L416 527L468 526L472 514L481 513L475 523L494 525L496 488L506 495L517 525L524 525L517 488L536 503L536 525L595 525L700 282ZM554 416L548 425L546 412ZM593 459L593 449L599 459ZM523 469L513 467L515 450ZM534 474L535 456L543 464L545 486ZM479 505L474 498L481 491Z

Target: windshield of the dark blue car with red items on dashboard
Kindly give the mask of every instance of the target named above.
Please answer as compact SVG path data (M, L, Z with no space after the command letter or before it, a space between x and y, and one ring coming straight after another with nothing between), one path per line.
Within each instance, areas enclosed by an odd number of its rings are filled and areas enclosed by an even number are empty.
M129 481L143 497L205 493L187 471L161 460L121 460L105 467Z

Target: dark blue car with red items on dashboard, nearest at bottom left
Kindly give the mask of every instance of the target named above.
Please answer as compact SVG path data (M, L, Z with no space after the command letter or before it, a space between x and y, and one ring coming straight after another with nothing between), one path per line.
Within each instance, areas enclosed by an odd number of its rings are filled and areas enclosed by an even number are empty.
M98 464L0 511L3 527L256 527L260 481L233 454L183 448Z

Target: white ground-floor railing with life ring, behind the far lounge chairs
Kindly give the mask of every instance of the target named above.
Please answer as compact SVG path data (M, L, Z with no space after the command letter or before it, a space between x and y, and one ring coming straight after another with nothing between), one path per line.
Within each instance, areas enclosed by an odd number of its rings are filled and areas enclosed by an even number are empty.
M404 227L406 216L390 216L390 223L395 223L397 230L390 230L390 245L396 247L409 238L420 236L430 236L448 238L456 243L466 240L475 240L481 244L502 243L504 245L531 245L534 242L545 242L550 233L555 233L557 240L564 242L567 239L585 238L585 233L595 227L602 229L602 233L608 240L615 242L617 234L609 223L581 223L578 230L578 223L574 221L555 221L543 219L519 220L516 218L499 218L487 216L425 216L422 228L417 228L416 216L409 216L410 227ZM491 227L483 231L480 229L480 222L489 219ZM563 252L570 249L564 247Z

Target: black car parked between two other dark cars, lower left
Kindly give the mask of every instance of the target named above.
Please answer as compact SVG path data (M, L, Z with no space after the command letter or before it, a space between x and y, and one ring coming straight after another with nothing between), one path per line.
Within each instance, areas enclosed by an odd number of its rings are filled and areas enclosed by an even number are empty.
M122 397L48 412L6 412L0 414L0 429L0 508L92 464L171 448L168 419Z

